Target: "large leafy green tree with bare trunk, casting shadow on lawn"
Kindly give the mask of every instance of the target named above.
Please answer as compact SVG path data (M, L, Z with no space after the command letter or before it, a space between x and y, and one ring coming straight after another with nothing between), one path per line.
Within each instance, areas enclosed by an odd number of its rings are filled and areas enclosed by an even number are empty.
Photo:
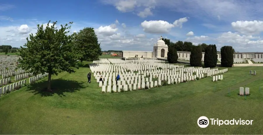
M48 22L46 28L43 24L37 25L37 33L30 34L24 47L21 46L19 67L31 69L34 75L49 73L47 89L51 91L51 75L60 72L75 72L79 67L79 55L76 46L72 43L72 35L67 35L71 26L61 25L56 29L57 22ZM70 22L69 24L72 24Z

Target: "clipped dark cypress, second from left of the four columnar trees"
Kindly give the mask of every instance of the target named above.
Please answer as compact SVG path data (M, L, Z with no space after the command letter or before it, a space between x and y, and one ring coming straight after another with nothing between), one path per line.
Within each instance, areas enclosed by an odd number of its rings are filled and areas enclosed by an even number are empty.
M192 46L190 55L190 65L192 67L202 66L202 47Z

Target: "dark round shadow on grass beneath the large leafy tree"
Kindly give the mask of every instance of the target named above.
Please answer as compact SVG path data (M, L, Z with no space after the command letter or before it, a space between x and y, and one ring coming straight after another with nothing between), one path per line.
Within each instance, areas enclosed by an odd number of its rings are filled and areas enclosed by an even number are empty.
M27 86L27 91L34 93L34 95L41 95L42 97L59 95L60 97L66 96L64 93L66 92L76 92L85 88L85 82L78 82L73 80L65 80L62 78L53 79L51 81L51 89L52 91L47 91L46 88L48 86L48 81L38 81L29 86Z

